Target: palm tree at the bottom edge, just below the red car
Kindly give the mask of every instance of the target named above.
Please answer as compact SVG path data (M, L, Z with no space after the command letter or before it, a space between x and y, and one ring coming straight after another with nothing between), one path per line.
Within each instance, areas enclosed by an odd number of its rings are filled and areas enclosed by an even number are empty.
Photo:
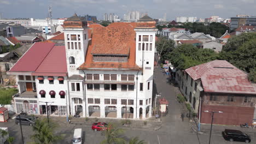
M113 124L108 124L107 129L102 131L105 140L101 144L125 144L126 141L119 136L124 133L123 129L115 128Z

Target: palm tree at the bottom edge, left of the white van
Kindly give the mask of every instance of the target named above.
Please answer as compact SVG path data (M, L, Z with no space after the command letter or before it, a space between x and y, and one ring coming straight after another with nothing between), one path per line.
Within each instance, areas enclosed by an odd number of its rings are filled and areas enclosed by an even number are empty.
M57 125L53 122L48 123L47 119L37 119L33 125L34 135L31 139L34 140L36 144L52 144L57 140L61 140L61 135L54 135L54 129Z

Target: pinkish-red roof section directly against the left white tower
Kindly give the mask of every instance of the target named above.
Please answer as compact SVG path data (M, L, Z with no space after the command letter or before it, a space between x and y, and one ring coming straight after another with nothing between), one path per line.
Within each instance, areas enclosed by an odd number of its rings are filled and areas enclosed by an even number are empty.
M32 75L66 76L67 62L65 46L54 46Z

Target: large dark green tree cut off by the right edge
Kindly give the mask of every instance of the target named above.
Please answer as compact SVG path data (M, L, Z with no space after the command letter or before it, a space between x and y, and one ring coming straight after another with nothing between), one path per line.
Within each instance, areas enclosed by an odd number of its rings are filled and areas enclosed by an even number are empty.
M256 33L231 37L220 52L220 58L250 73L248 79L255 82Z

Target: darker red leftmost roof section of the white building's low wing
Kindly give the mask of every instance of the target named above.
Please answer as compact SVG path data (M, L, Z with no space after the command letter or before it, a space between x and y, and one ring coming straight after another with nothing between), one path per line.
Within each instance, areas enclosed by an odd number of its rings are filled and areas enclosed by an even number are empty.
M54 43L34 43L9 71L35 71L53 47Z

